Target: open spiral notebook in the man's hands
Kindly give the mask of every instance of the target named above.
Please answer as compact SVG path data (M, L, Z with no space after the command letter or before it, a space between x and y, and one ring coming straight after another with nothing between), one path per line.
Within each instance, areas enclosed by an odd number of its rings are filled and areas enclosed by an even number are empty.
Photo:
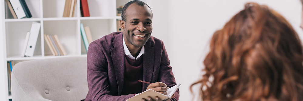
M152 89L148 89L148 90L146 90L146 91L144 91L144 92L142 92L142 93L140 93L136 96L133 96L133 97L127 99L126 101L141 101L141 99L147 99L147 97L151 97L153 100L156 100L155 99L156 96L158 96L161 99L161 101L166 101L166 100L170 99L173 96L173 94L177 91L177 89L179 88L180 85L181 84L179 83L179 84L177 84L173 87L170 87L168 89L166 95L158 93L158 92L156 92Z

